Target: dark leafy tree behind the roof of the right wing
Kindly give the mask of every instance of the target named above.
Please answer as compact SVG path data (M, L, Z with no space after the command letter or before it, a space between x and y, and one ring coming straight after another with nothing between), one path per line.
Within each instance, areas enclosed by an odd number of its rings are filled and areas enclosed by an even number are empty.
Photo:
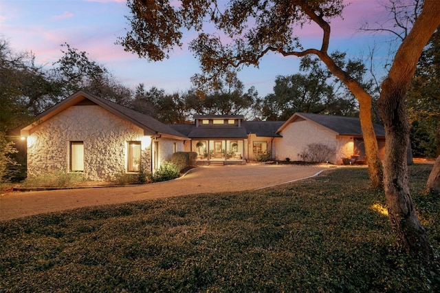
M373 80L366 78L367 69L361 61L346 60L346 54L333 52L338 66L354 76L362 87L373 94ZM351 92L335 78L319 58L305 56L300 72L292 76L277 76L274 94L263 100L263 117L267 120L287 120L295 112L358 116L358 102Z

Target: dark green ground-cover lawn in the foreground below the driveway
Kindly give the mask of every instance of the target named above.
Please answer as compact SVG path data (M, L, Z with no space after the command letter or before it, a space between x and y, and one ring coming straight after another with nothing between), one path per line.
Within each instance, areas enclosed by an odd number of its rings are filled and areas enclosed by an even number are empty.
M438 254L430 166L410 170ZM438 266L395 246L367 172L5 221L0 292L439 292Z

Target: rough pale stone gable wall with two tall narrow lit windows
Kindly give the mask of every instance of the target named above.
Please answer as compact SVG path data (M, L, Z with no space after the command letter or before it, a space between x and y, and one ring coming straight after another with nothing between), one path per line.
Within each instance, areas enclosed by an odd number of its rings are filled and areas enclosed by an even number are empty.
M72 106L32 129L28 138L28 176L69 171L69 142L84 142L84 174L111 180L126 171L127 141L143 130L97 105ZM149 145L146 146L146 149ZM142 146L144 155L149 151ZM143 158L148 164L149 158ZM144 166L146 170L149 166Z

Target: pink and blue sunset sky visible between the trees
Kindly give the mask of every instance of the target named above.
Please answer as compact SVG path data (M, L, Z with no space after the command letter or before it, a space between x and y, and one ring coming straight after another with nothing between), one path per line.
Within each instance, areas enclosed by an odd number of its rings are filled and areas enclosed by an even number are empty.
M375 0L349 2L344 19L331 23L329 51L340 50L355 58L368 56L376 47L375 59L384 60L388 54L386 37L358 32L364 21L384 21L384 8ZM127 87L134 89L144 83L146 89L155 86L169 94L189 89L190 77L199 72L197 60L186 49L194 35L184 36L184 49L175 50L170 59L148 63L115 45L118 36L124 36L129 28L125 15L129 15L125 0L0 0L0 35L12 50L32 51L36 63L47 68L61 58L61 44L68 43L89 53L91 60L107 67ZM318 28L307 27L301 36L305 47L320 46ZM277 75L297 73L298 64L296 57L270 54L259 68L243 69L239 78L246 89L254 86L263 97L272 92Z

